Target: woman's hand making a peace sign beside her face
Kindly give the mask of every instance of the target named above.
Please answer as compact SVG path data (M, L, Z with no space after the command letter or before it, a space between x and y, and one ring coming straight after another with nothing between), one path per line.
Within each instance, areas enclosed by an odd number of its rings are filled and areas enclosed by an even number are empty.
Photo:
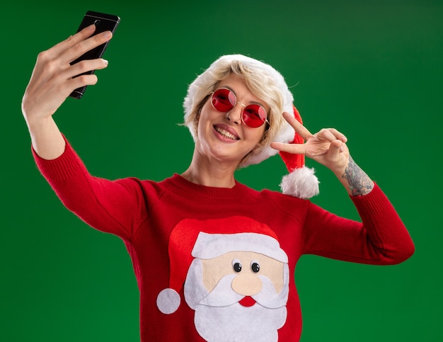
M304 144L272 142L270 146L273 149L292 154L304 154L326 166L336 175L343 175L350 159L345 135L334 128L323 128L323 130L313 135L304 125L301 125L301 123L294 118L294 115L285 112L283 113L283 117L306 142Z

